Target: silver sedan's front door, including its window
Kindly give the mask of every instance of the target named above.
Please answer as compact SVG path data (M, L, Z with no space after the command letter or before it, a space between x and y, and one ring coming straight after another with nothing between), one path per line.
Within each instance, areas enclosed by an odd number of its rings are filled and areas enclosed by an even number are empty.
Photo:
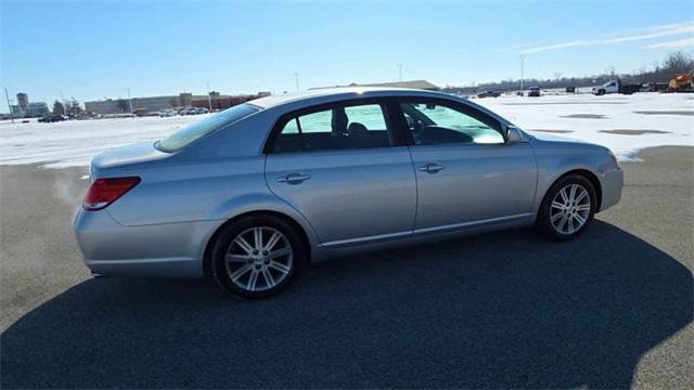
M473 106L400 101L417 181L415 233L527 221L537 164L529 143L507 144L501 123Z

